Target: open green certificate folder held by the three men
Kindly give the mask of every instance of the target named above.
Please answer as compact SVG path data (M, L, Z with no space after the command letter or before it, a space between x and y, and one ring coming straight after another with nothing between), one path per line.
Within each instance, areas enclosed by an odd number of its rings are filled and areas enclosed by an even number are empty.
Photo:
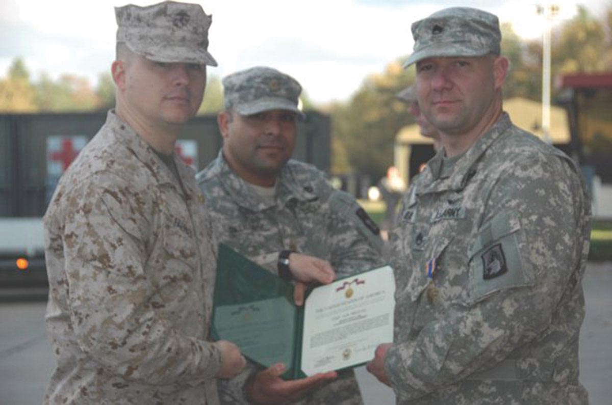
M394 289L386 266L319 286L297 307L293 283L221 243L212 337L264 367L285 363L285 379L354 367L392 341Z

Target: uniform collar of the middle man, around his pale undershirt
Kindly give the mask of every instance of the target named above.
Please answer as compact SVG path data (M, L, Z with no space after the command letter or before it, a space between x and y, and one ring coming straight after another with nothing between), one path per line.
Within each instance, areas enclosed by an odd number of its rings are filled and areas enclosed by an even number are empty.
M242 177L238 176L223 157L222 150L219 151L217 159L215 159L212 171L217 175L220 184L230 193L236 204L248 210L263 211L277 204L285 206L294 199L312 201L317 198L312 186L304 185L304 187L300 187L290 166L289 162L286 163L278 174L275 201L267 201L261 198Z

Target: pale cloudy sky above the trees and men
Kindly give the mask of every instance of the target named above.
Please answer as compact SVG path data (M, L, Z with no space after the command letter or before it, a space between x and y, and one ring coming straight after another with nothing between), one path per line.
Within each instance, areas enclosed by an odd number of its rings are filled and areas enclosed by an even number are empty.
M134 0L147 6L157 1ZM315 103L345 101L371 73L412 52L410 26L436 10L471 6L510 22L526 39L539 38L536 0L203 0L212 14L209 51L225 76L267 65L294 76ZM114 59L114 6L124 0L0 0L0 78L21 57L38 80L42 72L86 76L97 83ZM558 0L558 20L571 18L577 2ZM583 0L602 15L611 0Z

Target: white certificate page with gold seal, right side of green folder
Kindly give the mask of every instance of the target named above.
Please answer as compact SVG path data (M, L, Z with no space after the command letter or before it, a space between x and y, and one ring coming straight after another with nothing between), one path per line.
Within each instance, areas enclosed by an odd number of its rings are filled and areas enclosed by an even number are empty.
M393 341L395 279L379 267L313 289L304 304L302 370L307 376L353 367Z

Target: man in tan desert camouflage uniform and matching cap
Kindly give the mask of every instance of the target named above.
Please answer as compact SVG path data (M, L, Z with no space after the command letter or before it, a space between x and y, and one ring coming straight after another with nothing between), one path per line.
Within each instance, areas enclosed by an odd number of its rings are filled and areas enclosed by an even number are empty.
M211 18L196 4L116 8L116 110L66 171L44 217L46 404L218 404L244 367L207 340L216 244L174 141L200 106Z

